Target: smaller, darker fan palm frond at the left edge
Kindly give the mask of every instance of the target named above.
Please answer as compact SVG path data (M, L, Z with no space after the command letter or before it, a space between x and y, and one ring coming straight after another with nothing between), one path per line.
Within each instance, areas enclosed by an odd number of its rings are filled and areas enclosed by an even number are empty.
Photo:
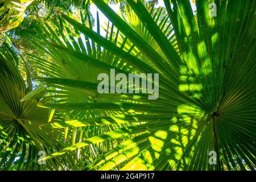
M36 102L46 89L39 86L32 90L28 70L27 83L24 82L11 56L14 53L0 51L0 169L64 169L56 161L42 166L37 162L41 154L65 147L62 142L64 134L60 130L40 127L47 123L49 116L48 110L37 107ZM69 159L65 160L68 168Z

